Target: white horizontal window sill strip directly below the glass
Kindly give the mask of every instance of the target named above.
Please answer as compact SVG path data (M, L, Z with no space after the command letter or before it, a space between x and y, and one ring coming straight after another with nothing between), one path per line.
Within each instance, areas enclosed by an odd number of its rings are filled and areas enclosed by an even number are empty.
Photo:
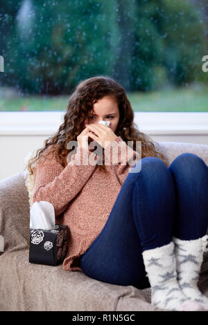
M49 136L66 111L0 112L0 136ZM135 112L139 131L152 135L208 136L208 112ZM208 144L208 143L207 143Z

